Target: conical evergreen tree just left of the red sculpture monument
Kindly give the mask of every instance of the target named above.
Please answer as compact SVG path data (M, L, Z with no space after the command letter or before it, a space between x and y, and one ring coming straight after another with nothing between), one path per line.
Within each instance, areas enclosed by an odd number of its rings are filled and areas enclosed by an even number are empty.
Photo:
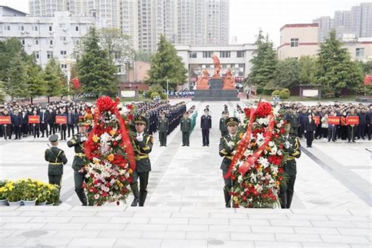
M158 49L152 56L151 68L148 71L149 78L146 80L149 84L160 84L167 88L167 79L169 79L169 88L175 89L177 84L185 83L187 69L182 58L177 55L175 47L166 40L164 35L160 36Z

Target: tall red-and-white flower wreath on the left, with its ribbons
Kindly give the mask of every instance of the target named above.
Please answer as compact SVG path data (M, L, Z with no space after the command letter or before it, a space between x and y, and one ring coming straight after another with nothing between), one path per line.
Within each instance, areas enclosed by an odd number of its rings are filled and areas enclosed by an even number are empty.
M132 106L120 105L110 97L100 97L94 108L94 126L85 142L88 200L93 205L125 201L130 175L135 169L134 152L129 139ZM123 119L123 116L126 117Z

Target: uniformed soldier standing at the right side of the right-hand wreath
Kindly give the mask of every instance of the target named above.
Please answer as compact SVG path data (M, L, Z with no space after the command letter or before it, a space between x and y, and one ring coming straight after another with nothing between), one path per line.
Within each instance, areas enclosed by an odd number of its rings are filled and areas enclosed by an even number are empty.
M297 137L297 132L290 132L290 130L295 131L295 129L291 128L290 124L287 124L285 129L287 133L289 132L285 141L285 150L288 152L289 158L284 164L284 172L288 175L288 182L280 186L280 204L282 208L290 208L293 194L295 192L294 186L297 174L296 158L301 156L301 144Z

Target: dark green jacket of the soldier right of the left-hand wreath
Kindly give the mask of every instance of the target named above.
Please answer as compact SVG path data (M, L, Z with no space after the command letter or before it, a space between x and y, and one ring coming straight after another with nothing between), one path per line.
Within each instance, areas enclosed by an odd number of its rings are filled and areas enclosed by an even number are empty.
M149 172L151 171L151 163L149 153L152 150L154 140L151 135L143 133L143 140L138 141L135 137L132 137L133 150L135 155L136 172Z

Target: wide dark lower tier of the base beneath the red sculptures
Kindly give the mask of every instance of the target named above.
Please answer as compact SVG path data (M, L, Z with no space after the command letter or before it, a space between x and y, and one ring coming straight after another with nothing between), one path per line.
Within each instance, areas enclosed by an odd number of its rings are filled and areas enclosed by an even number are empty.
M192 101L240 101L237 90L195 90Z

